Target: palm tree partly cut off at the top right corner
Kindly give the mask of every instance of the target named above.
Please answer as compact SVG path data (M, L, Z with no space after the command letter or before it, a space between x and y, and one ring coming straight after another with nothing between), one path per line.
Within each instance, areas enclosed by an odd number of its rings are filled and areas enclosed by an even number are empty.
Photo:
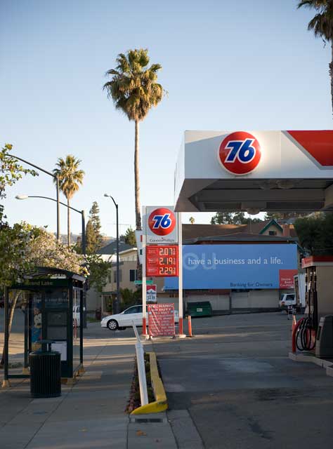
M333 0L303 0L297 8L305 6L313 8L315 17L308 22L308 29L313 29L315 36L331 43L332 60L329 62L329 76L331 77L331 100L333 110Z

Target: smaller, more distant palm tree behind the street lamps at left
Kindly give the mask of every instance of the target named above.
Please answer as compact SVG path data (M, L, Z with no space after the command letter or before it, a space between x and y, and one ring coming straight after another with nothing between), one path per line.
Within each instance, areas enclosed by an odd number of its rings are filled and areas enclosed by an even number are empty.
M67 199L67 206L70 206L70 200L75 192L79 190L79 184L82 184L84 170L79 170L81 161L72 154L68 154L66 159L59 158L55 164L57 168L53 170L54 175L59 177L59 187ZM56 182L56 180L55 180ZM67 208L67 244L70 246L70 208Z

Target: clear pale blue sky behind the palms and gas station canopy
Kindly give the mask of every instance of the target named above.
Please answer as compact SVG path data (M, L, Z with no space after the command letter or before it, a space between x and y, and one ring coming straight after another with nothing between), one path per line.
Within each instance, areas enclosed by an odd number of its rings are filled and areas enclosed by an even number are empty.
M98 201L103 232L134 227L134 126L115 111L105 71L129 48L148 48L169 95L141 124L141 203L172 204L174 168L186 129L332 129L329 46L307 31L313 11L293 0L2 0L0 142L52 170L74 154L86 171L72 205ZM55 230L51 177L8 189L10 222ZM63 209L62 232L66 232ZM76 216L75 216L76 215ZM185 214L188 222L190 214ZM211 214L196 214L208 222ZM127 226L122 226L124 232ZM72 230L81 230L73 213Z

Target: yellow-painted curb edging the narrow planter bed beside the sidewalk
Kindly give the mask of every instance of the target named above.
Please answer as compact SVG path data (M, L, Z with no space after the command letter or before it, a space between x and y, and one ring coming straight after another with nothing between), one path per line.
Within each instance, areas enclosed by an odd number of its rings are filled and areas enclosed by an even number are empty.
M168 408L168 401L164 390L161 377L159 377L157 368L157 358L155 352L148 352L150 359L150 378L152 380L152 389L154 391L155 401L133 410L131 415L144 415L148 413L164 412Z

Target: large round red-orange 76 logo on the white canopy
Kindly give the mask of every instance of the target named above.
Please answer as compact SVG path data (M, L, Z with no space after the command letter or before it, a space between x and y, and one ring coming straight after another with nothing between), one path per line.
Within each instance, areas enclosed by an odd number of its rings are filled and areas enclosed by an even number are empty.
M247 175L259 164L261 149L259 141L250 133L237 131L229 134L218 148L218 161L234 175Z

